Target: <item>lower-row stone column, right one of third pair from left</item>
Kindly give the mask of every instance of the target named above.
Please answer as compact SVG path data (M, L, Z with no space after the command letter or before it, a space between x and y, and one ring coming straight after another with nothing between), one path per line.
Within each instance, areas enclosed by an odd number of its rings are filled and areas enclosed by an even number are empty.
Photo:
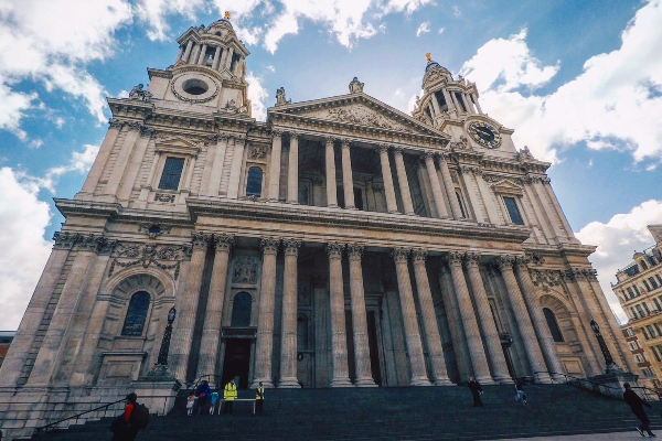
M363 291L363 269L361 267L362 254L363 245L348 245L350 291L352 295L352 327L354 331L354 359L356 365L356 379L354 384L359 387L370 387L376 385L372 377L370 346L367 344L367 315Z

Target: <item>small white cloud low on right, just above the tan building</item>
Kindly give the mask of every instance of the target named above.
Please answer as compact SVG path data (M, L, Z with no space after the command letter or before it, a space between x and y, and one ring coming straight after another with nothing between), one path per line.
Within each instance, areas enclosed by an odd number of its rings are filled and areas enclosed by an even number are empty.
M633 207L630 213L617 214L606 224L591 222L575 234L583 244L598 245L588 259L598 270L598 280L609 304L623 323L627 316L610 283L616 283L616 272L632 261L634 250L641 251L654 245L647 225L661 223L662 201L651 200Z

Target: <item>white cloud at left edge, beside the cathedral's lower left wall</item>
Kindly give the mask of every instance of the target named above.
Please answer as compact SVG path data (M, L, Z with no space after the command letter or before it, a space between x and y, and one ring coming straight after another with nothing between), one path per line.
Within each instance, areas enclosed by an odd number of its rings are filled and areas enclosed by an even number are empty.
M0 330L15 330L51 252L43 236L52 213L10 168L0 169Z

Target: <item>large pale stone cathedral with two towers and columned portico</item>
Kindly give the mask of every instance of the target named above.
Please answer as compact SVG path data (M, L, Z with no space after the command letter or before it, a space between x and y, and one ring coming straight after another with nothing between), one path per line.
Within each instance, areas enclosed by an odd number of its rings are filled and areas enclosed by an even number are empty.
M108 98L83 189L55 200L66 222L0 370L0 420L30 397L45 398L17 428L132 390L173 305L183 384L591 376L591 318L633 368L549 164L482 112L474 84L428 55L413 116L354 78L303 103L280 88L261 122L228 19L178 43L147 89Z

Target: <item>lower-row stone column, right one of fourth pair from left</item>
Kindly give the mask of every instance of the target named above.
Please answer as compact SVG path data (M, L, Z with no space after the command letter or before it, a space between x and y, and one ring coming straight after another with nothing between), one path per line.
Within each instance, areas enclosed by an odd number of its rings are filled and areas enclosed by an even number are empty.
M420 315L423 316L425 341L433 366L433 380L435 385L450 386L452 383L448 379L448 373L446 372L439 324L437 323L437 314L435 313L430 282L425 269L426 257L426 250L415 249L413 251L414 277L416 278L416 290L418 291L418 304L420 305Z

